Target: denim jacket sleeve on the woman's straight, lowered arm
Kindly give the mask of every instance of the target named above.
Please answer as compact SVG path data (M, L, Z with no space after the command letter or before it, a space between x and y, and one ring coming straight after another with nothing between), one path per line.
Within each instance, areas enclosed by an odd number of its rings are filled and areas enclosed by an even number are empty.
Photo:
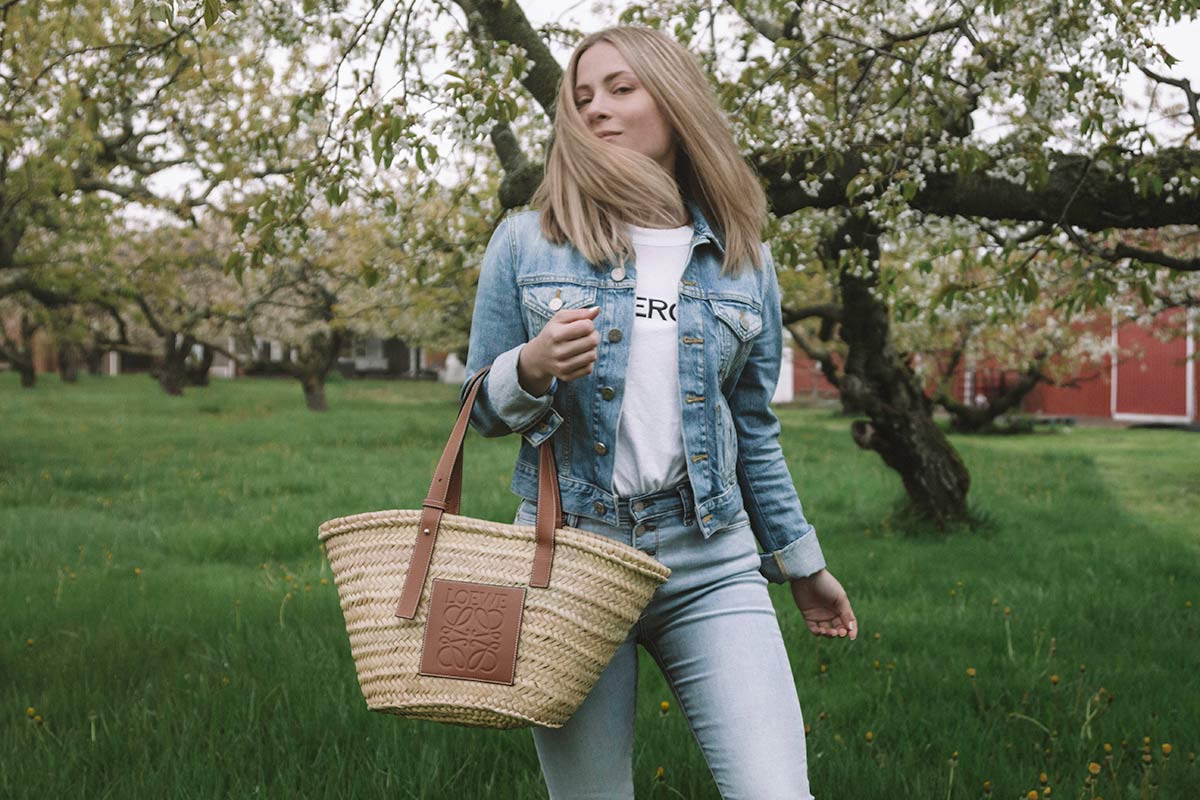
M816 530L804 518L779 444L779 417L770 408L779 384L784 326L779 276L769 247L762 247L767 260L762 330L751 342L730 397L730 410L738 435L738 485L750 527L764 551L760 554L760 572L772 583L785 583L818 572L826 561Z

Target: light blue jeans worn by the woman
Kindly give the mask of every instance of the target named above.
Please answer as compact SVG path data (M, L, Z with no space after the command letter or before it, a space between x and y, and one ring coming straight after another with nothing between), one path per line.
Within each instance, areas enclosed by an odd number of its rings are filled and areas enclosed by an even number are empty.
M515 523L533 524L523 499ZM608 536L671 567L629 638L562 728L534 727L551 800L632 800L637 645L666 675L725 800L811 800L804 717L758 548L743 511L704 539L690 486L623 498Z

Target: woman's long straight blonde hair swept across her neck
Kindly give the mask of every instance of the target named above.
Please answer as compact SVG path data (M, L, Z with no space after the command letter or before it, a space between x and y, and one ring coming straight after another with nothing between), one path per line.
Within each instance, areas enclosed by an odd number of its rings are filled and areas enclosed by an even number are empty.
M617 48L671 125L674 175L649 156L601 142L575 107L580 56L596 42ZM740 275L748 263L762 266L767 197L691 53L670 36L636 25L586 36L558 86L553 144L530 199L541 210L542 235L557 245L569 240L602 269L606 261L634 260L623 223L674 227L685 216L686 198L725 247L722 275Z

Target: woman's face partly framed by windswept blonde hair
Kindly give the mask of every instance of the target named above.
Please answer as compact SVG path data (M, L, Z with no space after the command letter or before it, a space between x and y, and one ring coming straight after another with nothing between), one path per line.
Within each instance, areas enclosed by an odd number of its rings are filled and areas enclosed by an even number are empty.
M608 42L596 42L575 65L575 107L595 136L636 150L674 175L676 146L670 122L634 71Z

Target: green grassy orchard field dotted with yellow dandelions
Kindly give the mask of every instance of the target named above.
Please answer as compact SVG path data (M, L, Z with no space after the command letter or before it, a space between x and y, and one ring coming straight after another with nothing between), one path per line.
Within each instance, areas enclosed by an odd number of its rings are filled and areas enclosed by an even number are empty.
M317 543L331 517L419 507L457 387L329 399L0 373L0 796L546 796L528 730L366 710ZM845 420L779 415L862 626L816 639L772 587L817 798L1200 796L1200 437L955 437L989 524L912 536ZM463 513L511 522L516 449L469 434ZM641 669L637 798L718 798Z

